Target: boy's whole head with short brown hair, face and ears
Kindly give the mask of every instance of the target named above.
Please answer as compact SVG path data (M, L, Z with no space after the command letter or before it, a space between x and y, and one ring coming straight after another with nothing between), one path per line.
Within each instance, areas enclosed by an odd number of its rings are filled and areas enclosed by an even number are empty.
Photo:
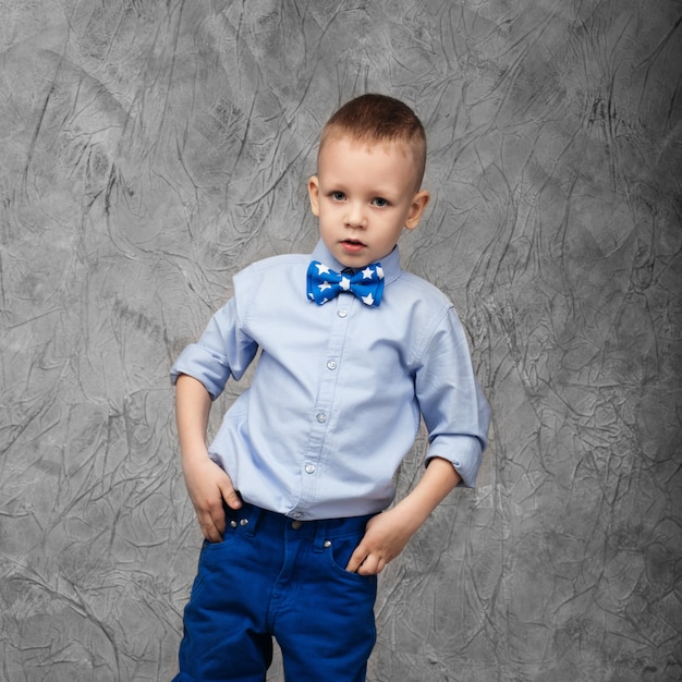
M392 97L363 95L329 119L308 193L320 236L341 264L379 260L403 228L417 227L429 199L419 191L425 161L424 126Z

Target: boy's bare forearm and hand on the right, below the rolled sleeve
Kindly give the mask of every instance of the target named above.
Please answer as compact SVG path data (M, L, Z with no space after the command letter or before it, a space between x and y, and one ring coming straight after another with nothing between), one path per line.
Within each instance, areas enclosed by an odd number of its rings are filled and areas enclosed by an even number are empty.
M380 573L460 480L450 462L438 456L430 460L414 490L395 507L369 521L345 570L361 575Z

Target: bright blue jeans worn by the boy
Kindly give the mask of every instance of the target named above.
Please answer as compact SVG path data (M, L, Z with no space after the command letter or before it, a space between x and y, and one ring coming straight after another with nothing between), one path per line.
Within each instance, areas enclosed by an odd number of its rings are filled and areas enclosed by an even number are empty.
M364 682L375 644L376 576L345 571L372 516L294 521L226 509L204 543L174 682L264 682L272 637L291 682Z

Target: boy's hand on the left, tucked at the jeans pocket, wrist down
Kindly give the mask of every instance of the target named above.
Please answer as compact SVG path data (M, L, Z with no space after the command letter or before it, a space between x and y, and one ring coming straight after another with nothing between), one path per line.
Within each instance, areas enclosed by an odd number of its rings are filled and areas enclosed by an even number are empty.
M222 501L232 509L242 506L232 479L208 454L183 461L182 468L204 537L209 543L220 543L226 528Z

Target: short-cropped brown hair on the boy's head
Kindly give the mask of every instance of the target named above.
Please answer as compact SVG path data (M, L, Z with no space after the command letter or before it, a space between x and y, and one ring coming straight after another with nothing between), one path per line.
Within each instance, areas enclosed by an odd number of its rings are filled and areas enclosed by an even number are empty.
M351 99L325 124L319 148L336 135L354 142L403 143L414 158L419 188L426 167L426 133L417 114L404 102L372 93Z

